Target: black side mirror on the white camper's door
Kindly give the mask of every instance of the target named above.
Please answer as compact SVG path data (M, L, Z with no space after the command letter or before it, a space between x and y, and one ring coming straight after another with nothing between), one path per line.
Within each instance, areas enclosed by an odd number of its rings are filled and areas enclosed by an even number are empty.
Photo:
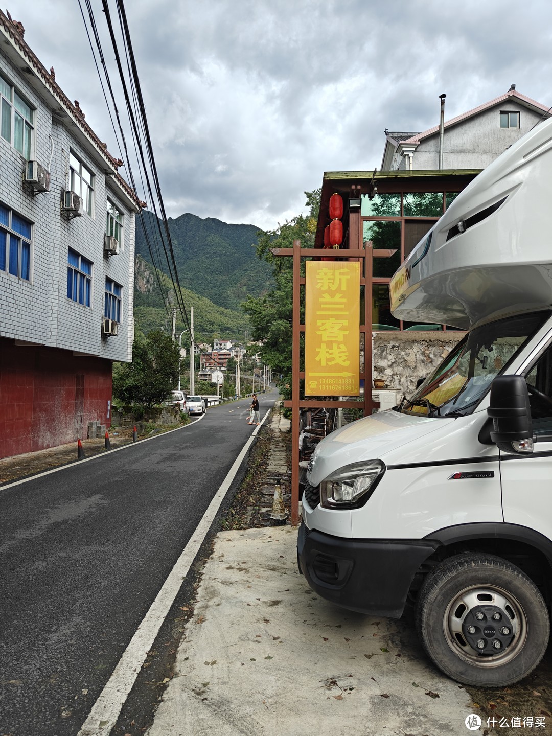
M506 453L528 455L533 452L533 425L529 392L520 375L499 375L491 384L490 406L492 442Z

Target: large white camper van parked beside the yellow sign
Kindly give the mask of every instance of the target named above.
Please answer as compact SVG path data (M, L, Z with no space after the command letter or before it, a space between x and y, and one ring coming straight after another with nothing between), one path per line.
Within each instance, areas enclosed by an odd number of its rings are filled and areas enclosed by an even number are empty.
M399 406L308 466L300 570L370 615L416 609L458 682L526 676L552 602L552 119L473 180L394 275L398 319L468 330Z

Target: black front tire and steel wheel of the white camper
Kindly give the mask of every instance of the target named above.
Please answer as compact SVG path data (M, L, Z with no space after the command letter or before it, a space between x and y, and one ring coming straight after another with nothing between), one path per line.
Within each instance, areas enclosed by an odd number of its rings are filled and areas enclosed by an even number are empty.
M481 612L483 623L476 620ZM548 645L550 617L539 589L519 567L493 555L464 553L425 578L416 628L425 654L447 676L503 687L537 667ZM481 643L484 655L475 649ZM503 648L495 654L497 643Z

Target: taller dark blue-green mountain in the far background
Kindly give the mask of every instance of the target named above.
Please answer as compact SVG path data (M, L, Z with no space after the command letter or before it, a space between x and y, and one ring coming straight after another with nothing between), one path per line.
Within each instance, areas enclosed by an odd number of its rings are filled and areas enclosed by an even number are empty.
M156 263L166 263L155 216L144 213L144 224L152 249L160 252ZM249 295L258 297L274 286L271 267L255 255L258 233L255 225L227 224L212 217L201 219L185 213L176 219L169 218L169 232L180 286L213 304L236 311ZM144 227L139 220L135 247L136 253L151 263ZM166 265L163 271L169 273Z

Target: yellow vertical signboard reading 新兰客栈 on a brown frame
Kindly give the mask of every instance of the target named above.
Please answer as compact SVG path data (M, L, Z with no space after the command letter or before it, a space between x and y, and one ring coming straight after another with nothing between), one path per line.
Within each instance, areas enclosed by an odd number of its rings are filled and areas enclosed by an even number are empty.
M305 396L358 396L360 263L305 264Z

